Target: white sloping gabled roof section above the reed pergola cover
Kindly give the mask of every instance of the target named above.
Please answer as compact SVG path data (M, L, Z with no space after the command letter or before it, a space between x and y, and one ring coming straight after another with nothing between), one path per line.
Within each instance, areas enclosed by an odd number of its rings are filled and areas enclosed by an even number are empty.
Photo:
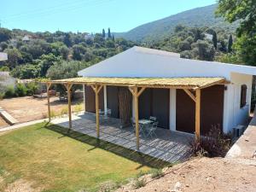
M135 46L79 71L79 76L122 78L224 77L230 79L230 73L256 75L256 67L188 60L180 58L177 53Z

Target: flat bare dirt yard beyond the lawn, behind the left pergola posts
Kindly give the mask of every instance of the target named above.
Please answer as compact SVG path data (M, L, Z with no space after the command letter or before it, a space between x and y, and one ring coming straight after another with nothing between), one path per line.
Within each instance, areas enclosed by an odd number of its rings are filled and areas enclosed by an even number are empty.
M72 108L74 109L75 105L81 102L83 102L83 100L73 102ZM33 98L32 96L24 96L3 99L0 101L0 106L15 119L17 119L19 123L44 119L48 115L47 98L38 99ZM81 107L83 110L84 105L81 104ZM61 113L63 108L67 108L67 102L60 102L59 97L57 96L50 97L51 111L54 111L55 113Z

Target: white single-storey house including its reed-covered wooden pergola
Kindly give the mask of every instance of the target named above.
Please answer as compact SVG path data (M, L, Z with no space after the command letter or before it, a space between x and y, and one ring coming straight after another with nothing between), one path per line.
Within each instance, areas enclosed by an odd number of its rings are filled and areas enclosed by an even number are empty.
M125 102L137 120L154 116L163 129L200 138L212 126L228 133L247 122L255 74L256 67L188 60L177 53L135 46L79 71L83 78L49 85L67 84L69 92L72 84L84 85L85 111L96 113L98 137L99 109L105 113L110 109L113 118L120 118ZM131 100L120 99L124 95ZM138 123L136 127L138 148Z

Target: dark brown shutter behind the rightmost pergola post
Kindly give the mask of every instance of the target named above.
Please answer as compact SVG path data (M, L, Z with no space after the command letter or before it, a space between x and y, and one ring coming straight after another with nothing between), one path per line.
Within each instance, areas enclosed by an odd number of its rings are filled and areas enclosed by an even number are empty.
M183 91L177 90L176 129L195 132L195 102ZM223 130L224 85L201 90L201 134L206 135L212 126Z

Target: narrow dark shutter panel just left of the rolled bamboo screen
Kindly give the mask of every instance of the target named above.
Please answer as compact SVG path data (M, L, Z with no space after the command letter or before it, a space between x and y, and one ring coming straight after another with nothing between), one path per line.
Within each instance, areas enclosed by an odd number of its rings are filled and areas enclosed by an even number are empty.
M111 117L119 118L119 88L107 86L107 108L111 109Z

